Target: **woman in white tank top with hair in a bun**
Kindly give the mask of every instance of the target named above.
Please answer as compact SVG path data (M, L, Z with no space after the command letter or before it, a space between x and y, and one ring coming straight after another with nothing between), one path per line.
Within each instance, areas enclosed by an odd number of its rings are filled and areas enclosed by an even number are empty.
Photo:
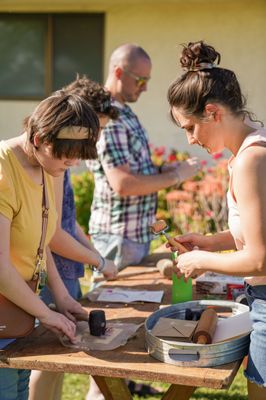
M215 63L216 62L216 63ZM177 267L186 278L213 271L245 277L253 331L245 375L250 400L266 399L266 130L245 109L233 71L220 68L220 54L200 41L183 47L186 71L171 84L171 117L189 144L209 153L228 149L229 230L212 236L176 238L189 251ZM218 253L222 250L236 252Z

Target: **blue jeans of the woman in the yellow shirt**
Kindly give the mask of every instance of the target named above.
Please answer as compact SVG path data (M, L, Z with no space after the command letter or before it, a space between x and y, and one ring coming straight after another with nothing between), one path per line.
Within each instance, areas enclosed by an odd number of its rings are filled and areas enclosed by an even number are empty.
M31 371L0 368L0 399L28 400Z

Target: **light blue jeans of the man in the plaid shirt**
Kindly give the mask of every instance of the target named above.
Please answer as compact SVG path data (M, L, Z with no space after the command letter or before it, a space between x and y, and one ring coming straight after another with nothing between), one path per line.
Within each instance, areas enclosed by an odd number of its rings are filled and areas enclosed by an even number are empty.
M138 243L119 235L102 233L92 237L94 247L109 260L113 260L118 270L128 265L138 264L149 254L150 242Z

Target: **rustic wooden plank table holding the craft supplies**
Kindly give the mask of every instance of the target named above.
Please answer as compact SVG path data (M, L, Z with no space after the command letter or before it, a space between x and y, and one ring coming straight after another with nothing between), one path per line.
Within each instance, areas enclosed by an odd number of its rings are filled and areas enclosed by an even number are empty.
M141 266L128 267L125 272L140 271L144 265L154 267L158 257L162 255L150 256ZM159 272L108 282L107 285L164 290L163 303L170 304L171 281L162 278ZM85 301L84 305L89 311L104 309L108 321L127 323L144 322L158 309L158 304L151 303L124 305ZM113 351L85 353L63 347L54 334L39 327L30 336L0 351L0 367L89 374L108 400L132 399L125 379L169 383L170 387L162 399L187 400L197 387L229 388L241 365L241 361L215 368L184 368L165 364L149 356L144 337L144 327L141 327L137 336L125 346Z

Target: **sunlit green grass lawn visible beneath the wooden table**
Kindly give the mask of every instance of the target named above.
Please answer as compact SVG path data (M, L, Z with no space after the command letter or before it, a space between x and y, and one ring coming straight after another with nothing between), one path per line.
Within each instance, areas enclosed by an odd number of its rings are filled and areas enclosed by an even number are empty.
M154 383L156 389L167 389L168 385ZM87 375L65 374L62 400L85 400L89 388ZM161 395L151 397L134 396L134 400L158 400ZM247 400L246 379L243 376L243 369L240 368L234 382L229 390L212 390L199 388L191 397L193 400ZM178 400L178 399L177 399Z

